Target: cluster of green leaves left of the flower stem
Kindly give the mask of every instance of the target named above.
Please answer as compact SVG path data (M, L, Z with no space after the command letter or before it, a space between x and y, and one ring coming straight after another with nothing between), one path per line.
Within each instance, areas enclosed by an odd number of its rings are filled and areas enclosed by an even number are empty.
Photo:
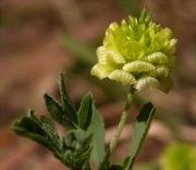
M60 138L51 120L34 110L28 110L27 115L19 118L13 125L13 130L45 146L71 169L89 169L90 156L95 155L93 159L99 164L100 157L105 155L102 119L95 108L90 93L83 97L76 112L62 74L59 76L58 84L61 104L48 94L45 94L45 102L49 115L66 129L66 133Z

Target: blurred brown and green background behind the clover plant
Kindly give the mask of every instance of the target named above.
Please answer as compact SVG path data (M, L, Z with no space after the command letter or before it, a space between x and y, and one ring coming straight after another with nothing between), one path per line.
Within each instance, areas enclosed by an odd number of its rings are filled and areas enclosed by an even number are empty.
M57 97L56 78L64 70L71 99L78 106L91 91L111 139L126 92L89 75L108 25L147 6L154 21L179 39L175 84L169 94L136 95L135 117L151 100L157 106L136 170L195 170L196 156L196 1L195 0L1 0L0 1L0 167L1 170L65 170L42 147L16 136L11 122L34 108L46 114L45 92ZM127 155L132 118L113 160ZM172 167L172 168L171 168Z

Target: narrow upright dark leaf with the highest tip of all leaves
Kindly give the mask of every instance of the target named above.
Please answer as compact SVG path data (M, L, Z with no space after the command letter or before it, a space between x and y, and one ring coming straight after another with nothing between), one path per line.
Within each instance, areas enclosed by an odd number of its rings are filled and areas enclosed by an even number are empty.
M72 122L74 122L75 125L78 125L77 114L68 94L68 91L64 84L64 77L62 73L60 74L58 78L58 84L59 84L59 90L61 93L63 110L68 113L68 116Z

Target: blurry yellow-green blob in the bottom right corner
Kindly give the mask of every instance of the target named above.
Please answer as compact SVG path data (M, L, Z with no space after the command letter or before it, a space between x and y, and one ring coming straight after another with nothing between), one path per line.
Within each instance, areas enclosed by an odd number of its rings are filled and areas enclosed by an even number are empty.
M172 143L157 161L136 166L135 170L195 170L196 146L188 143Z

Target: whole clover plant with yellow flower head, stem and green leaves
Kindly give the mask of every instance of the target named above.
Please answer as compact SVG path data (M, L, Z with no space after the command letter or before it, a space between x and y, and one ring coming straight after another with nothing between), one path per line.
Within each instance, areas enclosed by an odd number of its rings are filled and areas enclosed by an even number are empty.
M66 129L65 134L60 138L51 120L33 110L16 120L13 130L45 146L72 170L90 170L90 160L99 170L132 169L156 112L151 103L143 106L135 120L130 156L119 165L112 164L110 157L128 120L135 91L146 88L170 90L175 44L171 30L152 23L146 10L138 19L128 17L127 23L123 21L120 26L117 23L109 26L103 45L97 49L98 64L93 67L91 74L130 87L120 123L109 147L105 148L105 125L91 94L84 95L76 110L62 74L58 79L61 104L48 94L45 94L45 102L50 116Z

